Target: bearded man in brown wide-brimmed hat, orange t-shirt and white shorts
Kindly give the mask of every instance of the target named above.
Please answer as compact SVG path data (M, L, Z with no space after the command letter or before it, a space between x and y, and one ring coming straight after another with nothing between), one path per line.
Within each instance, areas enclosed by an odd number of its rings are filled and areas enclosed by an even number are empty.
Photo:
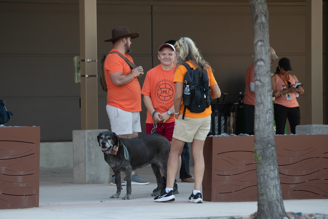
M138 78L142 76L141 66L131 69L129 64L118 54L133 62L131 56L131 39L139 34L130 33L128 27L120 26L112 30L112 38L105 42L113 42L113 49L107 55L104 63L105 80L107 85L107 114L112 131L121 138L134 138L141 132L141 89ZM122 184L125 182L122 181ZM148 180L143 180L132 172L132 185L146 185ZM115 185L112 177L111 185Z

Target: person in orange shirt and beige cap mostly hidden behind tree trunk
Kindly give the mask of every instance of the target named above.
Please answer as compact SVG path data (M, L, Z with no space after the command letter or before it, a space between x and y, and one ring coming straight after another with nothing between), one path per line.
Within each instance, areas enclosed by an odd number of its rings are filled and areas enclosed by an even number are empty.
M270 47L271 65L278 59L275 50ZM255 83L254 83L254 63L248 67L245 76L246 90L244 96L244 112L246 120L246 132L249 135L254 135L254 105L255 105Z

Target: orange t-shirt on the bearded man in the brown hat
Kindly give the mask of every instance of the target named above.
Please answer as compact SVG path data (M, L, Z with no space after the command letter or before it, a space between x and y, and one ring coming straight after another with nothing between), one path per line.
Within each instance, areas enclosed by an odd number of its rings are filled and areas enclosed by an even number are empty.
M112 49L111 52L119 52L117 49ZM128 54L123 54L127 59L133 62L133 59ZM123 75L131 73L131 68L117 54L108 54L105 63L105 80L107 85L107 105L117 107L128 112L141 111L141 88L138 78L133 78L127 84L116 86L113 84L110 74L114 72L122 72Z

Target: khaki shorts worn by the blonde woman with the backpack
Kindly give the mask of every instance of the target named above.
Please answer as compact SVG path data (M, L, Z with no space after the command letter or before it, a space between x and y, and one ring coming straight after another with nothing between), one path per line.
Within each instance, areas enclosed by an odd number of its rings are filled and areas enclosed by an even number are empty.
M193 142L194 139L205 141L211 127L211 116L204 118L189 118L180 114L175 119L173 138L184 141Z

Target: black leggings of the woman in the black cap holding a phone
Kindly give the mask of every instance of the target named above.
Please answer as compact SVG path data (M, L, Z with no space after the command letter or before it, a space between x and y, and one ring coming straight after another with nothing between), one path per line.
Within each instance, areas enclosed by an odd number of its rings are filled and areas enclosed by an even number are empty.
M275 121L276 121L276 134L285 134L286 120L288 118L290 130L295 134L295 128L300 125L301 114L299 112L299 107L284 107L280 104L274 104L273 108L275 110Z

